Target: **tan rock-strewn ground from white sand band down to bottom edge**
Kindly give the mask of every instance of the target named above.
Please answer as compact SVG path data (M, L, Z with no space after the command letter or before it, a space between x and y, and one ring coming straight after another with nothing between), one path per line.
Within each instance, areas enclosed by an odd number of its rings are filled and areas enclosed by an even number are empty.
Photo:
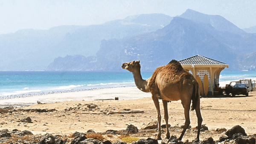
M114 97L119 93L112 92L108 95ZM83 92L81 95L90 96ZM134 95L138 93L134 92ZM0 143L255 144L255 96L255 92L250 92L248 97L201 98L203 127L200 141L195 139L195 111L190 111L191 127L186 130L182 141L177 140L185 121L180 101L168 104L171 124L168 127L172 137L163 139L166 126L162 125L162 141L154 139L157 134L157 115L151 98L116 101L67 100L47 104L38 102L36 105L21 108L4 107L0 109ZM165 124L163 107L160 105L161 124Z

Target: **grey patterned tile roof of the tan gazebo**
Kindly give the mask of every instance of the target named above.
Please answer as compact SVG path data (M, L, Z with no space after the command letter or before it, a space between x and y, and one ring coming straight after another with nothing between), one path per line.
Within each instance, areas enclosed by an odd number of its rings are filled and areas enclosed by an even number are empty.
M222 63L217 60L213 60L211 58L207 58L201 55L195 55L190 58L186 58L183 60L179 60L181 65L225 65L226 63Z

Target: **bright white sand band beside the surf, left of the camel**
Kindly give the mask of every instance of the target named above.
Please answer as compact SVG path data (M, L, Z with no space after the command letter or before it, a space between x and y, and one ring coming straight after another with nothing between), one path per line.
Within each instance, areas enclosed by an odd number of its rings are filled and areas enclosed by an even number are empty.
M134 95L137 95L134 97ZM129 100L137 98L150 97L150 93L140 91L136 86L124 86L113 88L102 88L85 90L78 92L66 92L66 93L54 93L47 95L35 95L31 97L23 98L10 98L0 100L0 108L3 107L26 107L30 105L41 103L55 103L62 101L95 101L97 99L115 99L119 97L119 100Z

